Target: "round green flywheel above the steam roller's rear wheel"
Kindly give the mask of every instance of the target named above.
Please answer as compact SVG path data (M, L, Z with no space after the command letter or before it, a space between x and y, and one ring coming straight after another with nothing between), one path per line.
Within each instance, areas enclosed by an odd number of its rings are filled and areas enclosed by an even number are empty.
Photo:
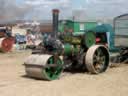
M90 46L94 45L96 42L96 36L94 32L86 32L85 34L85 45L87 48L89 48Z

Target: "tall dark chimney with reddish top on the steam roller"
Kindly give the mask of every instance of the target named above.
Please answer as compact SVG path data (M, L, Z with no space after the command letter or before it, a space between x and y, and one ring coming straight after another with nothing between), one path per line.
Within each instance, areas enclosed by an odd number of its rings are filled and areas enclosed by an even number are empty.
M53 36L54 38L57 38L59 10L53 9L52 12L53 12Z

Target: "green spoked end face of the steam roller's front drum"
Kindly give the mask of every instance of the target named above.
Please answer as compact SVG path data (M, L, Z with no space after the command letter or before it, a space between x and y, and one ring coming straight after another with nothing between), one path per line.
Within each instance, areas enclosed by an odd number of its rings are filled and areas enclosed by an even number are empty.
M54 64L54 56L51 56L48 59L47 64ZM62 68L63 61L60 58L58 58L56 64L58 66L45 68L45 76L48 80L55 80L60 76L63 70Z

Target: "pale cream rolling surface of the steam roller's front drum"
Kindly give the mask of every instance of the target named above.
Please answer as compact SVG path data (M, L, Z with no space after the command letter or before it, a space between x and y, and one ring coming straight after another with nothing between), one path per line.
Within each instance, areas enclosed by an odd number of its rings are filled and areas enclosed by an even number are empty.
M27 76L37 78L37 79L45 79L49 81L59 78L62 71L58 73L58 75L55 78L50 78L46 72L46 68L48 67L50 68L58 67L57 64L47 65L47 62L48 62L47 60L49 60L50 57L52 57L52 55L34 54L29 56L24 62ZM59 58L59 60L61 59ZM59 66L59 67L63 67L63 66Z

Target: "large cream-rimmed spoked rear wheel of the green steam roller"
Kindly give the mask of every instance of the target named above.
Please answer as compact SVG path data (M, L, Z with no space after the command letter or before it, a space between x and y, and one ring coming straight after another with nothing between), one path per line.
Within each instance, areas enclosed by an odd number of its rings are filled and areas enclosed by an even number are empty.
M109 66L109 52L103 45L90 47L85 56L87 70L93 74L105 72Z

